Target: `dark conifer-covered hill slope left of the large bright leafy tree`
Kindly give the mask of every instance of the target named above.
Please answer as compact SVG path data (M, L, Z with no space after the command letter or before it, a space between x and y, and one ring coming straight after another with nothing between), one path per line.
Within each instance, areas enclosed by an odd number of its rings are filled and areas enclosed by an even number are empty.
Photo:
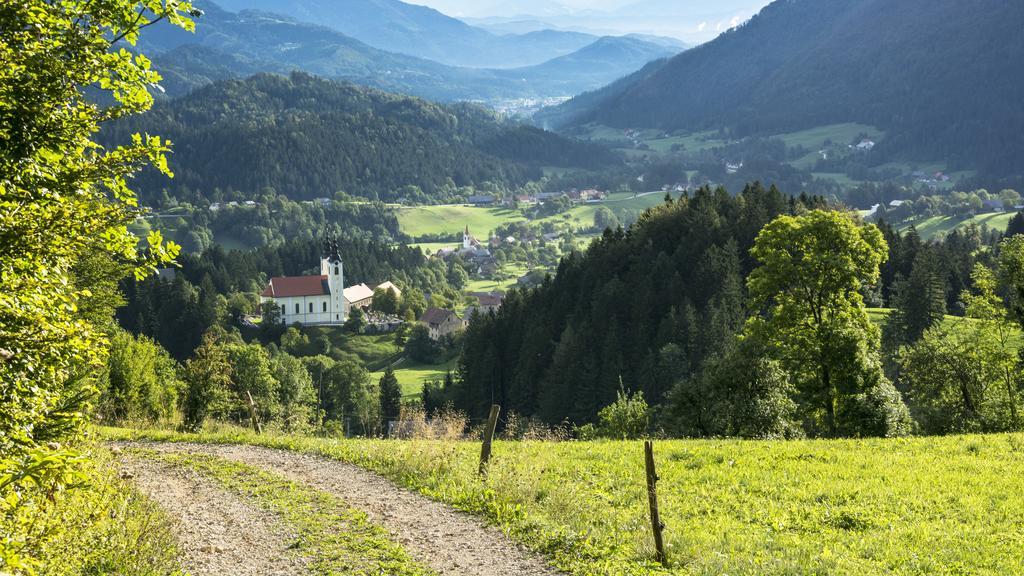
M622 386L660 403L741 327L749 250L793 202L760 184L703 189L609 230L553 280L470 324L445 401L474 417L497 403L551 423L593 421Z

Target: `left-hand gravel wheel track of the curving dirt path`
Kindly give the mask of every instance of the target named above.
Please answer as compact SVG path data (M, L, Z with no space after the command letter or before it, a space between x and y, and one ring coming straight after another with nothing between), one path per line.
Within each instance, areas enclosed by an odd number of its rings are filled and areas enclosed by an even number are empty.
M175 523L181 563L191 576L300 576L289 553L296 536L278 519L196 472L134 457L122 469Z

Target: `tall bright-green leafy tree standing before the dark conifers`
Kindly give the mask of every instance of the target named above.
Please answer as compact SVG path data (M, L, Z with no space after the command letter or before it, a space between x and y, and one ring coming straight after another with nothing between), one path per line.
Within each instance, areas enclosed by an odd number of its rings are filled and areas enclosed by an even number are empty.
M874 225L841 212L780 216L758 235L748 324L800 392L811 434L891 436L908 415L882 373L880 331L861 296L888 248Z

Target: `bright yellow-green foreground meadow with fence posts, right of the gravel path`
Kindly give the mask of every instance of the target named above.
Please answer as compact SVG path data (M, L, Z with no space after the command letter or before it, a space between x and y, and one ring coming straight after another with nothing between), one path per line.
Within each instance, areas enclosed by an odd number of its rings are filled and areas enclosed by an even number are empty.
M236 442L372 469L479 515L573 575L1019 574L1024 436L655 444L670 559L652 562L639 442L479 445L104 430Z

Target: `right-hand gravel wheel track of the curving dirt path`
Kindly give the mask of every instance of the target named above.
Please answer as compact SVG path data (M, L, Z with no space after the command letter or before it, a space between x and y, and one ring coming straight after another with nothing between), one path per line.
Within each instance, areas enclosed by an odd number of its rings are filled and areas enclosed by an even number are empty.
M244 462L337 496L383 526L416 560L443 576L558 576L540 557L480 520L357 466L252 446L137 445L162 452L210 454Z

